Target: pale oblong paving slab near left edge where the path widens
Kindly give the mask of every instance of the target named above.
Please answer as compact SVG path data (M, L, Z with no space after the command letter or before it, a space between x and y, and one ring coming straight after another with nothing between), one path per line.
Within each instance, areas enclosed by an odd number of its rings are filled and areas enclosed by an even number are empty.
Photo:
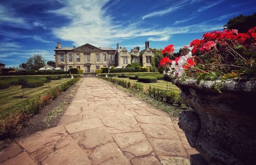
M103 123L99 119L88 119L80 122L73 122L65 126L65 129L69 134L77 133L83 130L97 128L103 126Z

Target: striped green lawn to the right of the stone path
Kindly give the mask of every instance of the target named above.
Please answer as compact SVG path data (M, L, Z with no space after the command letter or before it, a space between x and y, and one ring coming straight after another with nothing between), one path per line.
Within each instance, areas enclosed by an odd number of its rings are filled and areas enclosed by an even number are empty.
M130 80L129 78L113 77L112 79L130 81L131 83L136 82L138 84L145 86L146 88L149 88L149 86L151 86L151 87L167 90L167 81L164 81L164 80L158 80L157 83L142 83L142 82L137 82L137 80ZM168 90L173 90L176 93L180 93L180 89L176 85L173 85L171 82L168 82Z

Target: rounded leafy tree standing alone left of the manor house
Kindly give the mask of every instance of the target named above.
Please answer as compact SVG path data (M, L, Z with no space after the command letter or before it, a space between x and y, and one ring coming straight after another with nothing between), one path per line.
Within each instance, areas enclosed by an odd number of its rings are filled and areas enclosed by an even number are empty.
M40 54L34 54L34 56L27 59L26 69L38 70L45 66L45 60Z

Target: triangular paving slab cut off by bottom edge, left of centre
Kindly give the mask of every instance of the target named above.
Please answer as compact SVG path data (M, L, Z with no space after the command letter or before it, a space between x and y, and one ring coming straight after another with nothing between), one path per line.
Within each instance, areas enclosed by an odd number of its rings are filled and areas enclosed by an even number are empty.
M83 150L73 143L54 151L42 162L42 165L91 165L91 161Z

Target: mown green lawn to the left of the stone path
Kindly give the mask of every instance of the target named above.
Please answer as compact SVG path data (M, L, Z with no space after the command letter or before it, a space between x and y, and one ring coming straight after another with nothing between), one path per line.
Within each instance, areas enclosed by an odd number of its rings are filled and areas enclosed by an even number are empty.
M0 119L9 116L10 112L16 112L23 109L28 101L38 98L38 96L46 95L50 88L60 85L60 83L64 83L68 80L70 79L51 80L50 83L44 83L44 86L38 88L26 88L24 89L24 96L28 96L28 98L24 99L16 97L22 96L21 85L15 85L8 89L0 90Z

